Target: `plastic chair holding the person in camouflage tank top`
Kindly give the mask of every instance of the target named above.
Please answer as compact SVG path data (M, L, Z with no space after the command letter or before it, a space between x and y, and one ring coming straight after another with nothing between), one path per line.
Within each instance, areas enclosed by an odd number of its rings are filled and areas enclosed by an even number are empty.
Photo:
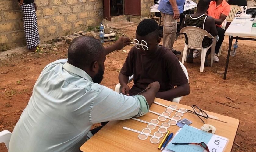
M216 46L216 36L212 37L212 35L207 31L205 31L204 29L201 29L195 26L184 27L183 29L180 30L180 33L181 34L186 33L187 39L188 39L188 44L185 43L181 63L184 64L184 61L185 62L187 61L187 57L189 54L188 49L202 50L200 72L203 72L206 52L209 48L211 48L211 67L212 67L213 56L214 56L214 51ZM213 43L207 48L203 48L203 45L202 45L203 39L205 36L207 36L208 38L213 38Z

